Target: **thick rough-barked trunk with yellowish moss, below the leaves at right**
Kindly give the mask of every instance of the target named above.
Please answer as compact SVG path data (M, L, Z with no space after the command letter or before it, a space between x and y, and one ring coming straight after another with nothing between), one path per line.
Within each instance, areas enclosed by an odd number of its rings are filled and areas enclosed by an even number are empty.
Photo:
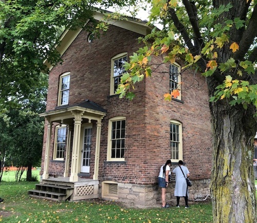
M255 109L210 104L213 127L213 222L257 222L253 176Z

